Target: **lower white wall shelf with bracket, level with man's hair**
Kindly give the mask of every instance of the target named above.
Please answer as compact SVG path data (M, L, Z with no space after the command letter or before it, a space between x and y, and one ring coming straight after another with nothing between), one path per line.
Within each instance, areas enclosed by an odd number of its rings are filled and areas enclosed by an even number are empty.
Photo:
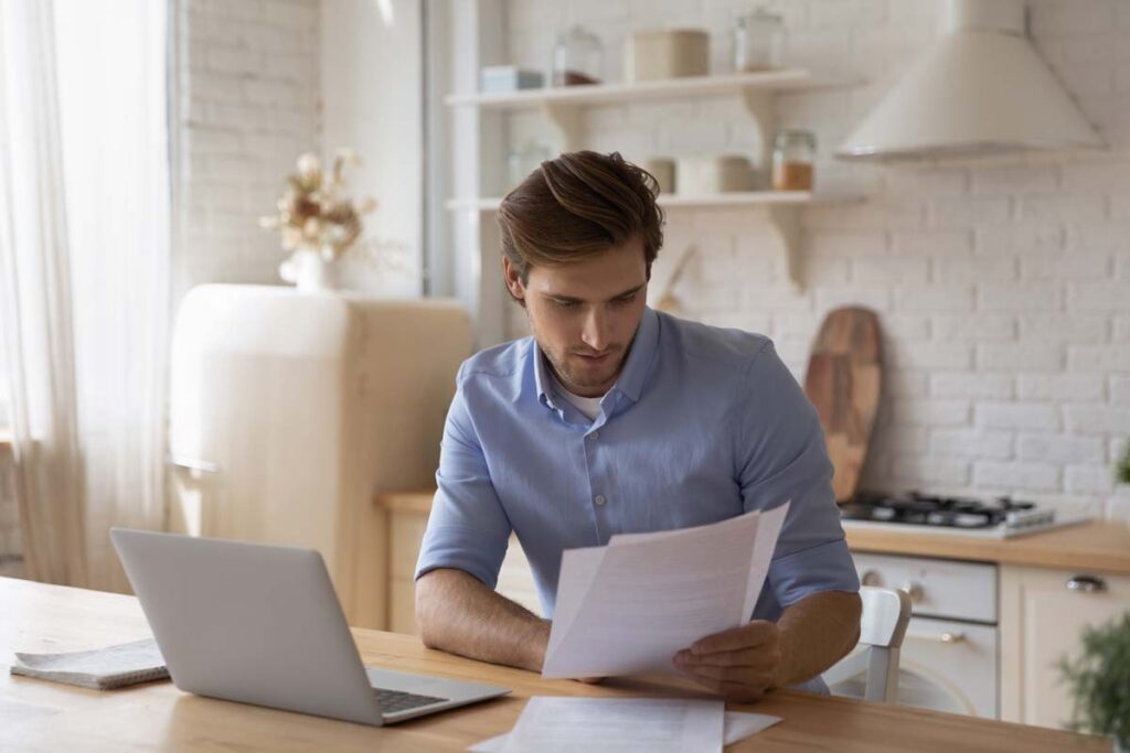
M660 195L657 203L664 209L729 209L749 207L763 212L765 222L774 230L789 283L794 291L802 289L800 280L800 210L805 207L845 204L862 201L853 194L820 194L809 191L744 191L703 194L698 196ZM499 198L449 199L450 211L494 212L502 203Z

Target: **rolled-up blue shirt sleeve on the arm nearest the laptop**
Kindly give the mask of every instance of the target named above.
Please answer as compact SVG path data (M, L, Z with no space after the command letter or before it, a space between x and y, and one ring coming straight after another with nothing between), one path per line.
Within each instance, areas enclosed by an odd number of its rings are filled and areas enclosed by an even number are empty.
M455 568L494 588L511 524L490 482L467 410L464 371L466 367L460 369L455 397L447 411L435 474L437 491L416 563L416 579L437 568Z

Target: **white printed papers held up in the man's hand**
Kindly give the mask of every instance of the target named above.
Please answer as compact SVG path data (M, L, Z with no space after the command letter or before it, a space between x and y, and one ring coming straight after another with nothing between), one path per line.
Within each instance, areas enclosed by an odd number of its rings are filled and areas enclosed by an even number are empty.
M680 649L749 622L788 510L566 551L541 676L672 671Z

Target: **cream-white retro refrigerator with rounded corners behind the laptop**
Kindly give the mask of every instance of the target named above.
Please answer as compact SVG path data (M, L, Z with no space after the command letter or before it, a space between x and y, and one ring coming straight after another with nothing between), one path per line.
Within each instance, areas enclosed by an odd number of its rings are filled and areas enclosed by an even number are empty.
M434 487L470 351L452 301L194 288L173 338L171 529L316 549L349 623L385 628L373 500Z

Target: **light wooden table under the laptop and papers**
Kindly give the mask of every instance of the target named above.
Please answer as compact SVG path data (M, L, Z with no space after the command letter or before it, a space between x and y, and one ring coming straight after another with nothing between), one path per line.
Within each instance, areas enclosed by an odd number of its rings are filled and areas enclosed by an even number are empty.
M131 596L0 578L0 653L62 651L148 637ZM477 680L514 689L496 701L394 727L366 727L229 703L176 690L168 682L93 691L3 674L0 751L462 751L513 727L527 698L541 695L706 697L661 678L605 685L538 675L425 649L410 636L355 630L366 664ZM842 698L777 691L753 706L783 717L730 751L1110 751L1092 736L973 719Z

